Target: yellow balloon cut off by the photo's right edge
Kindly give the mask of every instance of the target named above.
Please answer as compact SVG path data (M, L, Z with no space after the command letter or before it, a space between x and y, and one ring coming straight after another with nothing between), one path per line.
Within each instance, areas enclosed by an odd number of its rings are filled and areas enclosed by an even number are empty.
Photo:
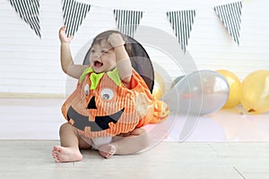
M269 111L269 71L250 73L242 82L240 101L251 114Z

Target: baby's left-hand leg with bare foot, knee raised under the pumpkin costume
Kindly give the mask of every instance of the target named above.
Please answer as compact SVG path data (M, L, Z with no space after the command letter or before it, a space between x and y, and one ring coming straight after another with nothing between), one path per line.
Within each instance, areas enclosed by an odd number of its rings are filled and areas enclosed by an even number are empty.
M82 160L79 150L79 137L76 129L71 124L60 127L61 146L54 146L52 155L56 162L73 162Z

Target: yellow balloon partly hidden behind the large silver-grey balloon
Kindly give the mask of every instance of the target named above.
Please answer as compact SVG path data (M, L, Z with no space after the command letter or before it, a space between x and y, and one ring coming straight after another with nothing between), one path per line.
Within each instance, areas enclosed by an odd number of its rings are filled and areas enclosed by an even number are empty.
M220 72L222 76L228 81L230 86L230 93L229 98L226 101L223 108L231 108L236 107L240 103L240 81L237 75L235 75L233 72L230 72L228 70L217 70L217 72Z

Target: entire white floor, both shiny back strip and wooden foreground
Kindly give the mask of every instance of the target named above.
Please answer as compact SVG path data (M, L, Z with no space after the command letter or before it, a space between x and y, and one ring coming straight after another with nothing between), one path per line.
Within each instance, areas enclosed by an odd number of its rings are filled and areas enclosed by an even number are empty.
M56 164L63 101L0 98L0 178L269 178L269 114L241 109L201 117L185 141L184 117L170 115L148 127L155 139L142 153L104 159L83 150L81 162Z

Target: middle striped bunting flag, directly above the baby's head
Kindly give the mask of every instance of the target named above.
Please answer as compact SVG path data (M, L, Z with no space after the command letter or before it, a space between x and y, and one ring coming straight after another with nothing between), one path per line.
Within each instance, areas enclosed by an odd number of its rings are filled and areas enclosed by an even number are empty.
M129 37L134 37L134 32L143 17L143 12L129 10L114 10L117 29Z

